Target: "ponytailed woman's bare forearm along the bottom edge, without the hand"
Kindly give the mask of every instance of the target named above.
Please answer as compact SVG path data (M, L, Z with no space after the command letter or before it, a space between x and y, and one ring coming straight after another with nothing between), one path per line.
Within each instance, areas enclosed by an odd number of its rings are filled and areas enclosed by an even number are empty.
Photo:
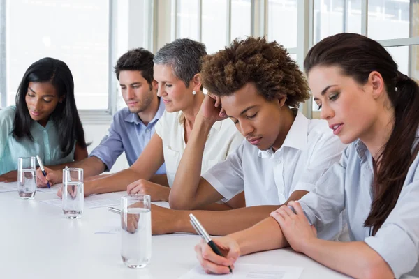
M304 254L348 276L394 278L390 266L363 241L337 242L315 239L305 244L302 251Z

